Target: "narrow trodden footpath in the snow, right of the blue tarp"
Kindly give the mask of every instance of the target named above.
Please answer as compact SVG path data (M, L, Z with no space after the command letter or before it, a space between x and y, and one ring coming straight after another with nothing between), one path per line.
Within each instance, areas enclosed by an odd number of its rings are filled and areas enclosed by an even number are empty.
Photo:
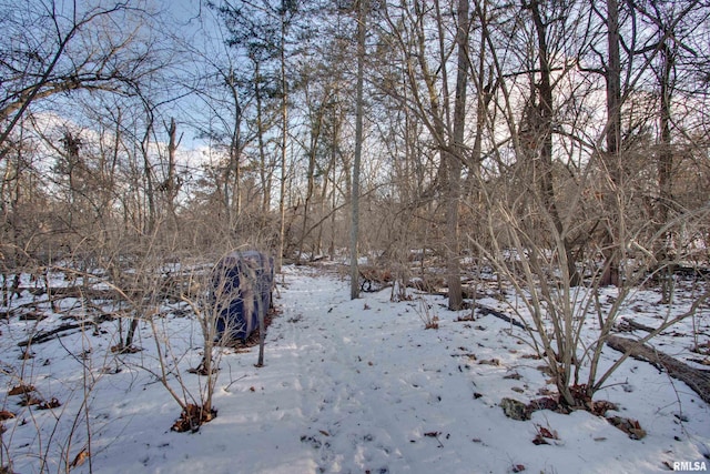
M419 401L412 399L432 395L417 393L420 385L407 381L407 374L383 372L393 361L379 355L390 342L386 332L374 340L373 330L384 324L364 319L376 310L365 310L362 301L351 304L346 284L339 290L333 294L318 280L298 280L282 300L280 323L286 325L285 346L294 350L287 356L298 367L294 387L306 422L300 440L317 451L316 464L324 472L349 466L408 472L407 438L420 434L403 432L402 418L416 417Z

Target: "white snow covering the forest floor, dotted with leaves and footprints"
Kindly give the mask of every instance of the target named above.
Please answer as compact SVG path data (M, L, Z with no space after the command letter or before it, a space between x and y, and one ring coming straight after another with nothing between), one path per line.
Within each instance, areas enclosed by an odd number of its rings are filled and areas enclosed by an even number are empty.
M278 281L281 313L268 330L265 366L254 366L257 347L221 350L219 415L196 433L170 430L180 407L155 376L150 325L140 325L142 351L134 354L110 352L118 325L110 321L99 333L34 344L34 356L21 360L17 343L55 326L60 315L3 322L3 387L22 380L61 406L39 411L4 395L3 409L17 417L3 422L2 463L10 456L18 473L59 472L88 447L91 456L72 472L651 473L674 462L710 463L710 407L646 362L626 361L596 396L618 404L609 415L637 420L647 432L641 440L582 411L515 421L499 406L504 397L528 403L554 391L521 330L493 315L456 321L470 312L450 312L439 296L390 302L385 290L351 301L347 280L323 269L285 266ZM438 329L424 329L418 297ZM639 291L627 312L662 316L653 299ZM703 311L694 323L704 324L707 342ZM156 327L161 347L174 355L171 386L183 394L180 374L196 397L191 403L200 403L205 377L187 373L202 357L199 325L168 315ZM688 353L688 337L666 335L662 344L673 356ZM602 363L619 356L606 347ZM558 440L534 444L541 428Z

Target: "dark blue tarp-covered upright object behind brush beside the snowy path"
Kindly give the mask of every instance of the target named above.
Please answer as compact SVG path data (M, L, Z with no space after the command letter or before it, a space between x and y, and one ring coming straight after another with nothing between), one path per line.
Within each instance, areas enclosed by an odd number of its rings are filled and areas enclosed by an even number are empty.
M212 275L216 337L245 340L271 307L274 259L254 250L224 256Z

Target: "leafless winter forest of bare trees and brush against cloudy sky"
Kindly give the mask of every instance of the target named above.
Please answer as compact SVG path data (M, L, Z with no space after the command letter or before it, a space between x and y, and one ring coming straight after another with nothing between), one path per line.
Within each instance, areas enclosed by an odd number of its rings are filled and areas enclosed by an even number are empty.
M708 1L0 0L0 27L7 320L75 299L130 351L168 297L207 351L204 269L256 249L352 299L497 289L579 407L635 291L686 304L641 343L707 317Z

